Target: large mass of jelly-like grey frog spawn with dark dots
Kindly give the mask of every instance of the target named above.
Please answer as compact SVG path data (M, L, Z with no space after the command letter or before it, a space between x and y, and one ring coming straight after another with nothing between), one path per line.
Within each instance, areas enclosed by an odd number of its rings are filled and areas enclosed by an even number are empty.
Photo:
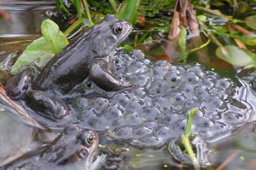
M119 54L113 65L117 77L135 86L115 93L87 87L85 91L91 94L85 93L87 97L74 104L82 107L77 121L83 128L107 131L113 140L151 147L184 134L192 108L197 109L192 132L206 140L250 121L252 108L244 98L247 87L221 78L206 66L154 63L137 50L131 56Z

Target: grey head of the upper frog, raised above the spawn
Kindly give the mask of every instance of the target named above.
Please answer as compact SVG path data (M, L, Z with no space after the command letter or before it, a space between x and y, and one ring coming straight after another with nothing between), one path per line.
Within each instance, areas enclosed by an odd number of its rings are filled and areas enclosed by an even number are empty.
M132 26L123 19L116 19L114 15L106 15L105 19L94 26L95 44L101 47L101 51L112 51L130 34Z

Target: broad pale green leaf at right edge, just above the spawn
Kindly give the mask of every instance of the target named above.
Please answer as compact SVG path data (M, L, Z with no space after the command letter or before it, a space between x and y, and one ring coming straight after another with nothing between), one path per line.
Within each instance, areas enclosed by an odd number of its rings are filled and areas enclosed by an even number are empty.
M224 46L216 49L216 56L235 66L251 66L256 68L256 54L237 46Z

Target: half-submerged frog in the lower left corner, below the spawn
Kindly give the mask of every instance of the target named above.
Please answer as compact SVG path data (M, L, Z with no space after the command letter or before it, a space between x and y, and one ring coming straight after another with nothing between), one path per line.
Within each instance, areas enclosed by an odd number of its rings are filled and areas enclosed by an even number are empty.
M30 151L0 169L89 169L97 158L98 144L95 131L71 125L50 145Z

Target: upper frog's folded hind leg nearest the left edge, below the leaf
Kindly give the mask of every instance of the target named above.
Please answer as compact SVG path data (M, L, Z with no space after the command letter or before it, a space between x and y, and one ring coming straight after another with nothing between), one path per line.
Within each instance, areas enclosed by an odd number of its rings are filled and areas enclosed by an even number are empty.
M22 94L29 90L31 83L40 73L38 66L29 66L25 70L19 71L12 76L5 85L7 95L13 100L19 100Z

